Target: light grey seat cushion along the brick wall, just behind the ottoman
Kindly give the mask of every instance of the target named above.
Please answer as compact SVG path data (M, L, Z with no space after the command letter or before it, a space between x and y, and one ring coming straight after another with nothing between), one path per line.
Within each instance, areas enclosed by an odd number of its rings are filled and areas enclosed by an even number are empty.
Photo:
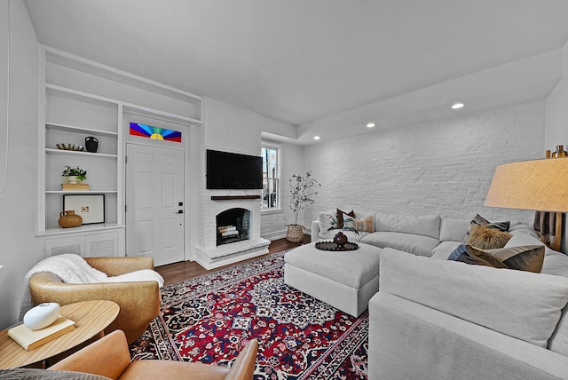
M361 242L374 245L375 247L404 250L419 256L432 256L432 249L438 244L438 239L419 234L378 232L368 234L361 238Z

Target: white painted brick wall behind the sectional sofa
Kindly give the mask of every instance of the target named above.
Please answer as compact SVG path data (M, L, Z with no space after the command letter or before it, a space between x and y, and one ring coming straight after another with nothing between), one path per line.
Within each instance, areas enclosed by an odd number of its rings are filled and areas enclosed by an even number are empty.
M304 225L335 207L532 222L531 211L484 201L498 164L543 157L544 125L537 102L306 146L305 169L322 190Z

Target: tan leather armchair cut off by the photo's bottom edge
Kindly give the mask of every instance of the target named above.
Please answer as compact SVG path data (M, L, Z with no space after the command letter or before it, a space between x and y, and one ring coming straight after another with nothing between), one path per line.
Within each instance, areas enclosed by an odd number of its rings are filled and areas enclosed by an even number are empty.
M257 347L256 339L250 340L231 368L173 360L130 362L130 351L124 334L122 331L114 331L59 361L48 370L75 371L123 380L161 378L252 380Z

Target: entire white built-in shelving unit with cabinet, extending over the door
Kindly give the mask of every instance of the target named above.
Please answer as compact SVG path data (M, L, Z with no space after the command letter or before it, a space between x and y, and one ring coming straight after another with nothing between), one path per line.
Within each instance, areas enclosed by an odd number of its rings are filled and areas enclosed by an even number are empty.
M40 173L37 235L40 256L67 249L89 256L124 256L124 150L126 115L184 125L201 124L202 99L63 51L42 47ZM127 133L127 132L126 132ZM96 153L59 149L99 140ZM65 165L87 170L89 191L64 191ZM105 194L105 223L61 228L64 194ZM94 244L90 246L90 244Z

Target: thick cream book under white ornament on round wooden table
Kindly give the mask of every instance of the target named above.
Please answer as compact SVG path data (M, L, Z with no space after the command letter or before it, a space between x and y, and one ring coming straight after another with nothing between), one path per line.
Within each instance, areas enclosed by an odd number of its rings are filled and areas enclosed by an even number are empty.
M21 323L9 329L8 336L20 344L26 351L29 351L73 329L75 329L75 322L59 315L59 318L46 328L32 330Z

